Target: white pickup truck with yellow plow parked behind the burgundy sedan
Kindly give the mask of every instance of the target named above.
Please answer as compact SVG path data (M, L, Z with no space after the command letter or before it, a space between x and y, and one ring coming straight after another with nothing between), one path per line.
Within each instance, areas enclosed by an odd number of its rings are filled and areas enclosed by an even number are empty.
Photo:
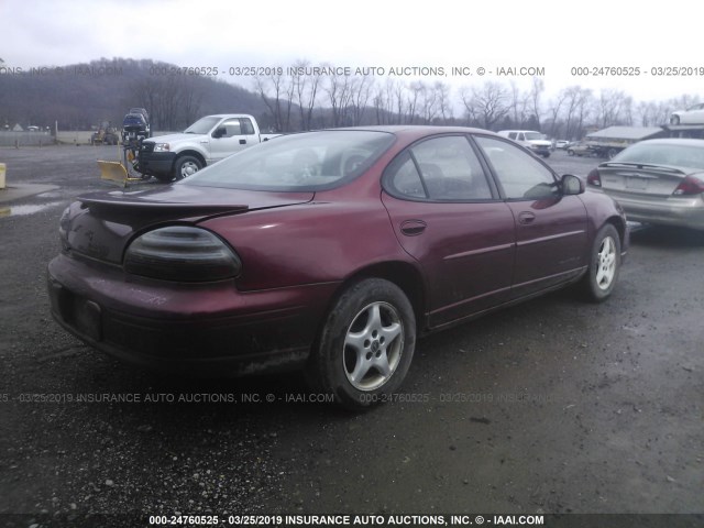
M252 116L206 116L183 133L143 141L139 152L139 170L162 182L186 178L206 165L277 135L262 134Z

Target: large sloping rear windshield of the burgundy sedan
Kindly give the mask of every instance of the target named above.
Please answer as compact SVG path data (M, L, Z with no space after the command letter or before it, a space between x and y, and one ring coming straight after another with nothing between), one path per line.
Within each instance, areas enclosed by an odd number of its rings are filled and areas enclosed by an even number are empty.
M272 191L332 188L360 176L394 139L367 130L284 135L199 170L183 184Z

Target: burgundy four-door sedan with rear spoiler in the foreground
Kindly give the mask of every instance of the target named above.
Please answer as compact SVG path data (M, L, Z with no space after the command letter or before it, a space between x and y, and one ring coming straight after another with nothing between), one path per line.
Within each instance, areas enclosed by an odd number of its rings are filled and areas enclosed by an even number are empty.
M416 337L581 283L607 298L623 210L483 130L277 138L177 184L78 198L48 265L55 319L124 361L197 375L304 367L365 407Z

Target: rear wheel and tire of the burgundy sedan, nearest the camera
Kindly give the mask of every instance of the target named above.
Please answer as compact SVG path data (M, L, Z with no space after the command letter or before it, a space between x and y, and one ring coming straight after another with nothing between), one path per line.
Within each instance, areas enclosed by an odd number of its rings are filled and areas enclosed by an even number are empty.
M363 279L330 310L307 375L343 407L369 408L400 386L415 348L416 317L406 295L388 280Z

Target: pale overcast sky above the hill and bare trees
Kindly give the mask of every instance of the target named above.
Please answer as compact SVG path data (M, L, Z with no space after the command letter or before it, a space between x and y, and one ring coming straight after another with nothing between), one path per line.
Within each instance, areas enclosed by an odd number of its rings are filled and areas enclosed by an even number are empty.
M548 97L572 85L624 90L637 101L704 96L702 10L682 0L645 6L618 0L0 0L0 75L1 67L152 58L215 66L224 70L220 78L251 88L251 79L230 77L229 68L286 67L308 59L386 73L442 67L443 78L426 79L457 89L484 80L527 88L529 77L497 78L496 72L538 67L544 68ZM474 75L452 76L453 66ZM608 66L640 68L640 75L572 75L573 67ZM653 75L652 68L672 66L700 75ZM487 72L484 77L476 75L480 67Z

